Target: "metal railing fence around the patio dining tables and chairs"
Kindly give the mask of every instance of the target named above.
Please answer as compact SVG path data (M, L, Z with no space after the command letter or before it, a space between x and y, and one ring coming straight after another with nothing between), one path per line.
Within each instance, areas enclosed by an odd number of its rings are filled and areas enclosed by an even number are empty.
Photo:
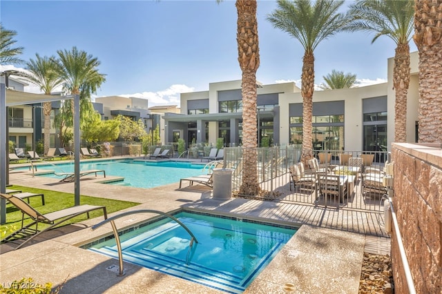
M233 169L232 190L242 185L242 148L224 148L224 166ZM257 148L260 197L312 206L383 212L386 152L314 150L300 164L300 146ZM311 166L312 165L312 166Z

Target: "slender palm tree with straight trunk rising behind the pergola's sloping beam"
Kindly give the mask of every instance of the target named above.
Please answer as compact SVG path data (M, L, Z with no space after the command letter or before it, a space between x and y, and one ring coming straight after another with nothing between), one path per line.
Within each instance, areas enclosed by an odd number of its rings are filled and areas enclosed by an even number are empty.
M55 57L40 57L37 53L35 60L30 59L26 63L26 69L29 72L25 72L24 75L32 83L40 87L46 95L50 95L52 90L61 84L61 79L55 72L54 63L51 59ZM50 102L44 102L44 154L48 153L50 147L50 111L52 105Z

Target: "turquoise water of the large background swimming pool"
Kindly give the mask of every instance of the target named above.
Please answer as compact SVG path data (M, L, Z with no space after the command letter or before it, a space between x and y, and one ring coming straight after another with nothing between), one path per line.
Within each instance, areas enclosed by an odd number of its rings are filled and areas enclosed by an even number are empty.
M180 182L183 177L201 175L204 166L185 161L137 161L132 159L105 160L105 161L81 161L80 170L106 170L106 176L124 177L124 181L110 182L106 184L117 184L122 186L133 186L137 188L153 188ZM39 166L38 171L52 170L55 173L73 173L74 164L50 164ZM204 173L207 173L205 170ZM44 177L55 177L62 179L54 173L41 175Z

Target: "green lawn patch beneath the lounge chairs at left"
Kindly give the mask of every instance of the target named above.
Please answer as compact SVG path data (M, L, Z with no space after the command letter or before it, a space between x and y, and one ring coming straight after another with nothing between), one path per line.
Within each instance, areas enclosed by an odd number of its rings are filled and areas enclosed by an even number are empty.
M72 193L63 193L54 190L28 188L17 185L8 188L12 190L22 190L23 192L30 192L30 193L43 193L45 205L41 205L41 197L29 198L30 206L35 208L35 210L37 210L39 213L43 215L45 213L51 213L52 211L61 210L64 208L68 208L70 206L74 206L75 203L74 199L75 196ZM123 210L125 208L138 205L139 203L80 195L80 204L106 206L107 213L109 214L118 210ZM89 215L90 218L99 217L103 215L103 211L95 210L90 212ZM69 219L67 222L61 224L61 226L66 226L67 224L73 224L75 222L81 222L84 221L85 219L87 219L86 213L84 213L84 215L79 215L78 217L74 217L73 219ZM26 225L29 224L30 222L32 222L32 219L30 219L27 215L25 215L24 224ZM48 226L47 224L39 224L39 229L46 228L47 226ZM17 230L18 228L21 228L21 211L12 204L7 203L6 224L0 225L0 232L3 235L3 232L5 233L9 232L11 231L11 228L15 228L13 231ZM9 235L9 233L7 233L6 235Z

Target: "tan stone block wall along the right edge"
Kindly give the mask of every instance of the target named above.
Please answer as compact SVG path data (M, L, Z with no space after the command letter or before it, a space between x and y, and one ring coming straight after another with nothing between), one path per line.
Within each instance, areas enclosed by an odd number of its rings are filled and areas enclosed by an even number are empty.
M416 293L442 293L442 144L393 144L393 205ZM396 293L408 293L392 234Z

